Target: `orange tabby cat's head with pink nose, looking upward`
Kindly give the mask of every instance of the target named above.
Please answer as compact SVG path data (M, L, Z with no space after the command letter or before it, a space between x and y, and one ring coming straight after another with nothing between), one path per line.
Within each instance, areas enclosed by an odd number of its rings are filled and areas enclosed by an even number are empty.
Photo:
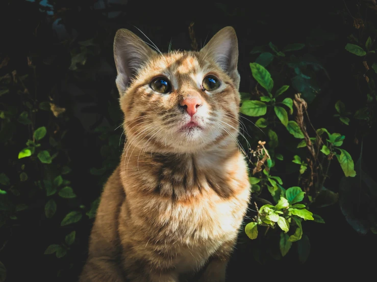
M198 52L161 53L148 45L124 29L114 40L129 145L185 153L236 142L240 77L233 27L224 27Z

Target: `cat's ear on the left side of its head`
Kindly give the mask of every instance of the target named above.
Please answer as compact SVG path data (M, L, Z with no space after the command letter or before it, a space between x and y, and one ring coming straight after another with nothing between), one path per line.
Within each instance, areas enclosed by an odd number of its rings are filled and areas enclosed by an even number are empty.
M130 79L156 54L143 40L129 30L120 29L116 32L114 60L117 71L116 86L120 95L127 89Z

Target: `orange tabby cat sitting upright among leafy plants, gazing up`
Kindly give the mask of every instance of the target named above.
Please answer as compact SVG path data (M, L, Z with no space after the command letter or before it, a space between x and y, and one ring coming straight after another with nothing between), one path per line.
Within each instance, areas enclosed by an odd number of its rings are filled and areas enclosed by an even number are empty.
M236 33L224 27L200 51L148 45L125 29L114 39L127 141L80 282L225 281L250 198Z

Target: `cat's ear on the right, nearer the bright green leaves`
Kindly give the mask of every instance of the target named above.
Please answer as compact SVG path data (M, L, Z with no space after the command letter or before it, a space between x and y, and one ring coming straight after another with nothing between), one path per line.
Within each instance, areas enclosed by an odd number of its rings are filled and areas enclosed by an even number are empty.
M200 52L206 57L211 57L233 79L237 89L239 88L238 42L232 26L224 27L217 32Z

